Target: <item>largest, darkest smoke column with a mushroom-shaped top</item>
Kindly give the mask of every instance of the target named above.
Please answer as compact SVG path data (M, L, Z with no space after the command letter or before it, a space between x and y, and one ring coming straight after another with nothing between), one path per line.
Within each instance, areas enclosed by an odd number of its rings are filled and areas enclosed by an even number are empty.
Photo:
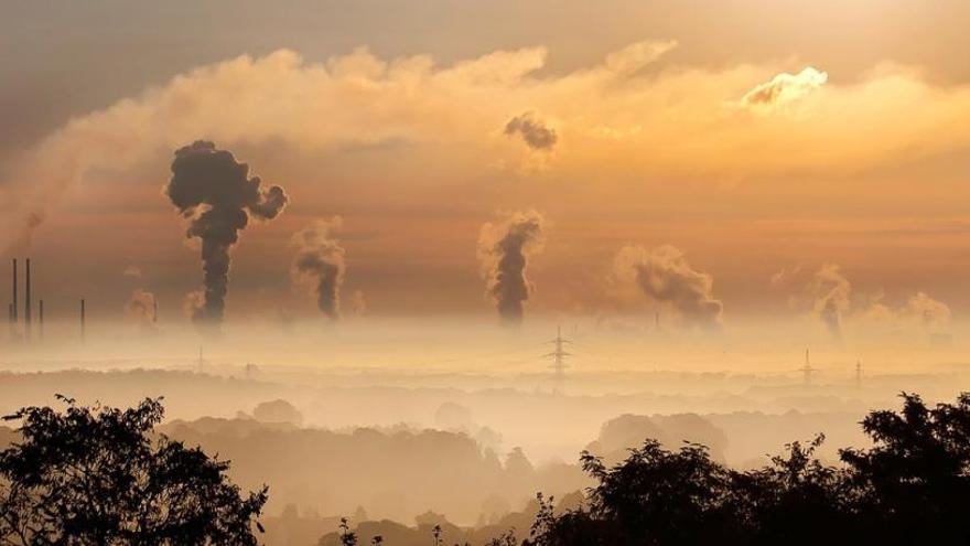
M249 165L213 142L196 141L175 152L165 193L182 216L192 220L185 235L202 239L203 298L192 319L219 323L229 283L229 249L249 217L274 218L287 205L278 185L249 178Z

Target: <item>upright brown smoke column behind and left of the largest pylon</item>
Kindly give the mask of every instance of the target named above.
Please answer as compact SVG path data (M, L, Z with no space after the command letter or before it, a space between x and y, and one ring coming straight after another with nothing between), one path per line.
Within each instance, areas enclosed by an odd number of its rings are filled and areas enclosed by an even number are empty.
M478 260L503 322L517 324L532 291L526 277L529 258L542 249L546 221L536 211L507 215L486 223L478 235Z

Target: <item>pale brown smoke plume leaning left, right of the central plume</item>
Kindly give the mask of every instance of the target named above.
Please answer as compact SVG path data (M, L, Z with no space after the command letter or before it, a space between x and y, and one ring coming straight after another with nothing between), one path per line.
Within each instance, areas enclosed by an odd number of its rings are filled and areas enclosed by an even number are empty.
M614 272L650 299L669 303L687 324L720 328L723 304L713 296L713 279L693 269L678 248L625 246L616 255Z

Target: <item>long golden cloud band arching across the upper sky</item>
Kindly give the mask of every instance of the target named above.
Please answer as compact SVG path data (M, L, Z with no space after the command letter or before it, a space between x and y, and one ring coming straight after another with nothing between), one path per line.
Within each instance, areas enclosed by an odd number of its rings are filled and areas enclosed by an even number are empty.
M433 156L421 159L446 163L451 180L518 163L520 151L496 139L495 128L534 105L570 128L548 170L573 180L855 172L970 146L970 88L934 87L894 66L824 89L822 72L779 74L773 64L643 71L671 46L632 44L554 75L539 72L542 47L449 66L428 55L385 60L365 49L320 63L280 50L203 66L77 116L20 154L0 184L0 249L36 227L29 218L48 217L67 186L93 173L130 172L197 138L228 148L279 142L313 154L424 144ZM756 82L765 83L752 88ZM777 108L812 90L798 119L731 107L741 100ZM906 124L891 122L898 111L907 113Z

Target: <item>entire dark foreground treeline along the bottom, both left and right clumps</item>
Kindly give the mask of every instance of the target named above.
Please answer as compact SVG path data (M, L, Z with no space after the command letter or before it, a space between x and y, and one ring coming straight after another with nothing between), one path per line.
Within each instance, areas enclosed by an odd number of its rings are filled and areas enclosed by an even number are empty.
M63 413L29 407L9 417L20 426L0 451L0 544L258 542L266 489L244 494L227 462L158 435L158 400L129 410L65 402ZM872 446L841 450L839 465L815 457L821 436L748 471L698 443L671 450L648 439L615 464L583 452L594 483L584 495L558 504L539 495L476 529L434 513L417 528L362 514L319 544L970 543L970 394L934 407L904 394L902 410L873 411L862 428Z

